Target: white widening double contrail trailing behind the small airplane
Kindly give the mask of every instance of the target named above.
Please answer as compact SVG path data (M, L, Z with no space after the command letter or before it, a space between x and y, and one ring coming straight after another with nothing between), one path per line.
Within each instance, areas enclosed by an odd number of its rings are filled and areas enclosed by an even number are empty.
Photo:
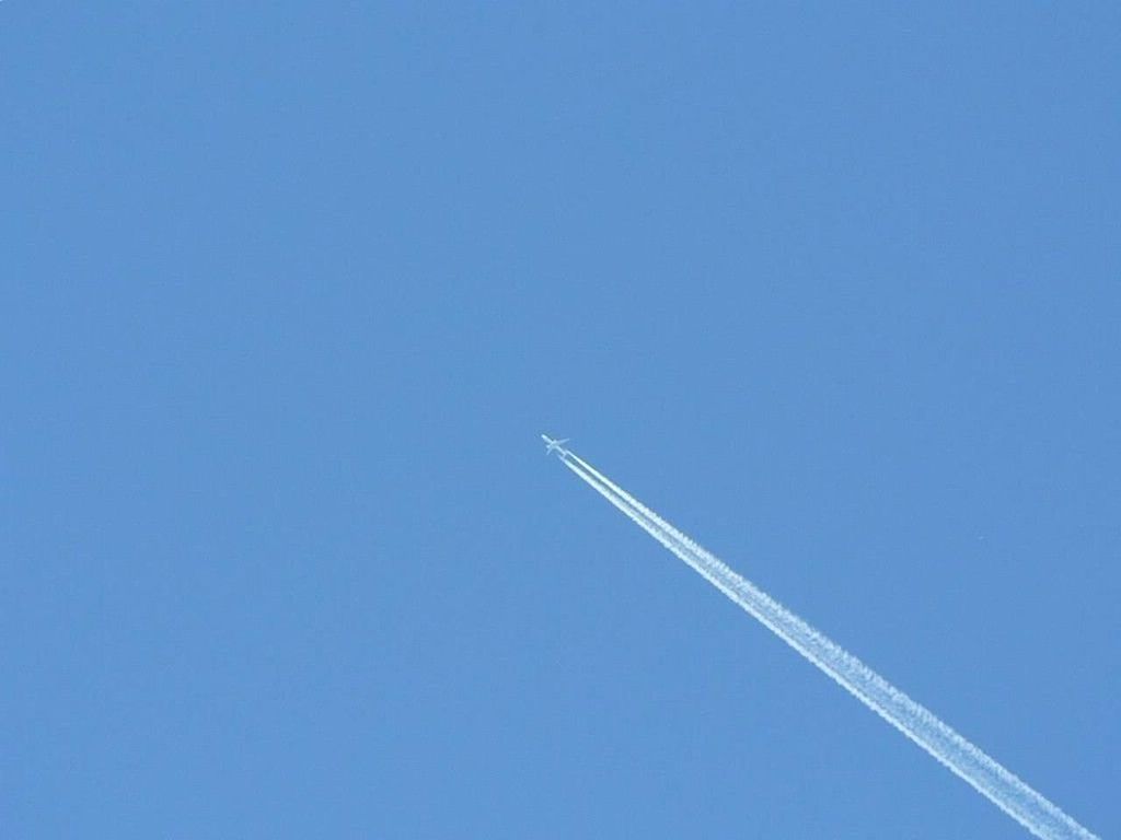
M554 451L566 467L642 530L1032 834L1044 840L1097 840L925 707L693 542L591 464L567 449Z

